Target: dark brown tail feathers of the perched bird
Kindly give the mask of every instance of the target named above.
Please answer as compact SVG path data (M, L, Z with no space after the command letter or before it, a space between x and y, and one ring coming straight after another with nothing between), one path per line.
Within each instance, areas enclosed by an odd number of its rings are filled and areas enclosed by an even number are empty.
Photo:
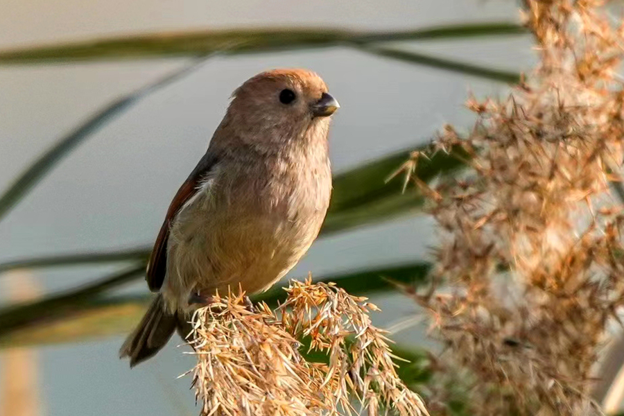
M158 295L150 304L137 328L126 338L119 357L130 358L130 367L153 357L171 338L173 331L178 329L180 335L187 336L189 325L180 320L177 314L168 313L164 308L162 295Z

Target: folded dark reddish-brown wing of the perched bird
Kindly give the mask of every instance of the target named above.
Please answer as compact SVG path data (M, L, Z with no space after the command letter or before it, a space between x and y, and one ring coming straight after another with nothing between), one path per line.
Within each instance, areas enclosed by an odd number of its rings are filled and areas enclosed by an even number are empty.
M210 150L202 157L200 162L187 177L180 189L177 190L169 209L167 216L160 227L160 232L154 244L150 261L148 263L146 280L150 291L156 292L161 288L167 270L167 241L169 239L169 228L177 213L184 207L198 191L201 183L205 178L209 177L215 171L217 157Z

